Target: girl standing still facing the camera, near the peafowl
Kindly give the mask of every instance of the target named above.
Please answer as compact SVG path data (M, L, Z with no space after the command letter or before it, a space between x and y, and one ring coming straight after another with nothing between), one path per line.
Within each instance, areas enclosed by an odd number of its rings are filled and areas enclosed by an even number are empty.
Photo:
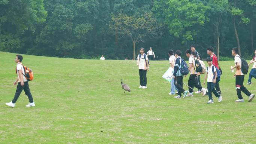
M140 74L140 87L146 89L147 88L147 71L149 71L149 63L147 55L144 53L144 48L140 48L140 54L138 54L137 65Z

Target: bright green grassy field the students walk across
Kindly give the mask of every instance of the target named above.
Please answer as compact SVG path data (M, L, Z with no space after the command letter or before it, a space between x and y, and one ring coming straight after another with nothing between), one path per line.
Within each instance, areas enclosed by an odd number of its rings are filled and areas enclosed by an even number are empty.
M23 57L36 107L25 107L24 92L15 108L5 105L16 64L15 54L0 52L0 144L256 144L256 99L234 102L234 61L220 63L222 102L207 104L208 96L168 95L168 61L151 61L148 89L138 89L136 61ZM123 94L121 78L131 93ZM246 87L256 93L252 82Z

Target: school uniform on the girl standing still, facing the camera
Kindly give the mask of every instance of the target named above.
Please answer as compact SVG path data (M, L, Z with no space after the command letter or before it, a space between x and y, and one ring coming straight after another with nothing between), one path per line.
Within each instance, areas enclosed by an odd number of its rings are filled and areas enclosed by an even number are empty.
M145 58L144 59L144 55ZM139 75L140 75L140 85L141 86L147 86L147 65L146 65L146 60L149 60L147 58L147 55L144 53L144 55L138 55L138 59L139 59L139 65L138 65L138 69L139 69Z

